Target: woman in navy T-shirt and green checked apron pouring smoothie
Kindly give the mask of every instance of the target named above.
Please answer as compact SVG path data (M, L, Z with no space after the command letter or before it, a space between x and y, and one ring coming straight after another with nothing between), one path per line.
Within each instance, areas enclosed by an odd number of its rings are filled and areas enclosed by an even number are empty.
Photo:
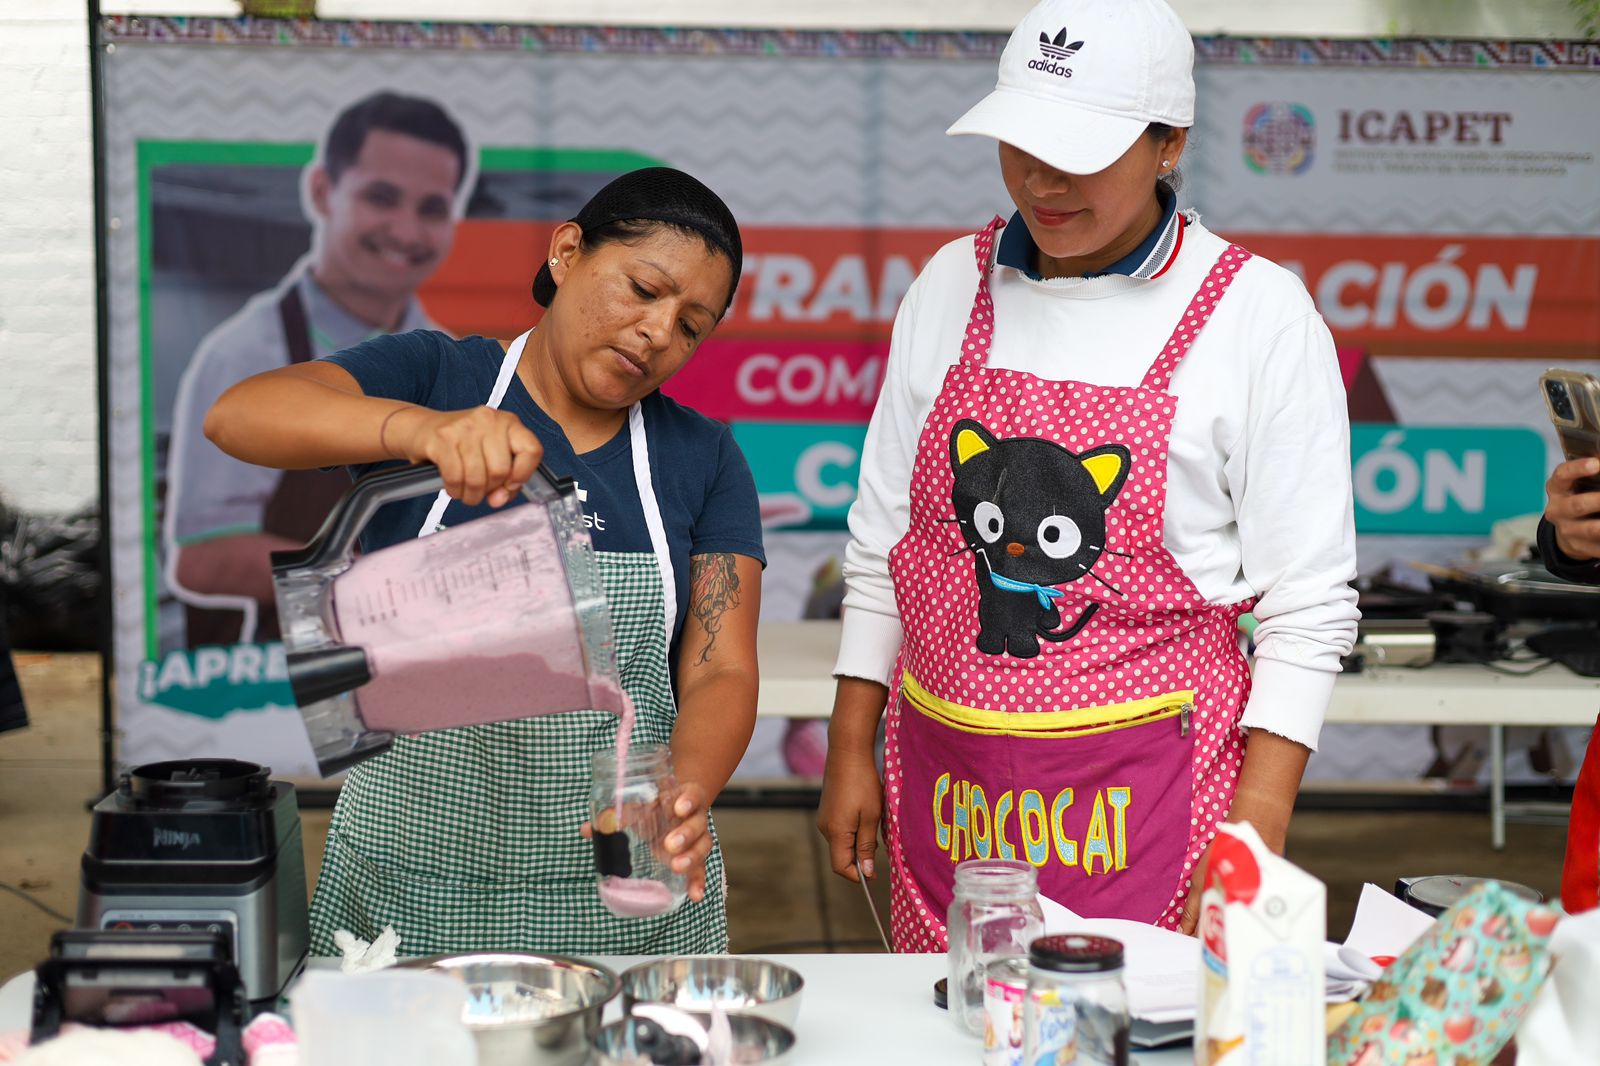
M520 503L541 456L576 479L637 709L632 743L670 744L682 783L666 847L691 901L619 919L579 836L590 757L618 744L616 715L402 736L339 794L314 954L334 952L334 930L373 938L386 925L406 954L726 951L707 808L755 723L760 509L728 429L659 386L717 327L739 266L738 226L710 189L669 168L634 171L555 227L533 283L547 312L509 351L386 336L243 381L211 408L206 435L262 466L437 464L445 495L379 511L368 551Z

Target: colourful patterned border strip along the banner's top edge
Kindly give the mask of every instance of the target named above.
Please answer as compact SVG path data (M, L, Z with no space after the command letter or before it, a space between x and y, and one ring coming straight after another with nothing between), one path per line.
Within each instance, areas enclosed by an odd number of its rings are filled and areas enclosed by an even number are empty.
M293 48L462 48L482 51L840 59L998 59L1005 34L888 30L736 30L502 22L333 22L117 14L109 43ZM1210 66L1600 70L1597 40L1302 40L1197 37Z

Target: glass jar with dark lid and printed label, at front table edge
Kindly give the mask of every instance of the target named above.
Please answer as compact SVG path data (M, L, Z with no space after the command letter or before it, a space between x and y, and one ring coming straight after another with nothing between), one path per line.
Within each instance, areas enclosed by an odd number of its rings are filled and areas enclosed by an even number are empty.
M1066 933L1032 943L1022 1061L1128 1066L1131 1026L1120 940Z

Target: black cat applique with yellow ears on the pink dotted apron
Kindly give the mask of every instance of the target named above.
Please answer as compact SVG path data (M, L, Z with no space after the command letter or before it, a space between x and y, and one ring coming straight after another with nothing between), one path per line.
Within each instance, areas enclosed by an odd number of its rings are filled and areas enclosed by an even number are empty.
M970 418L955 423L950 499L978 575L979 651L1027 659L1040 637L1070 640L1088 624L1099 603L1061 629L1062 592L1053 586L1094 578L1090 568L1107 551L1106 509L1131 458L1122 445L1074 455L1037 437L1002 440Z

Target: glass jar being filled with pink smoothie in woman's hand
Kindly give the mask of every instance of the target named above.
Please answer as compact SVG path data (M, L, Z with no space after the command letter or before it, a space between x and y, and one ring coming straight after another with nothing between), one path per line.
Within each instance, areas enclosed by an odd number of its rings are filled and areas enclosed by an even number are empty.
M669 914L688 898L688 876L672 869L667 832L677 778L666 744L634 744L595 752L590 760L589 816L594 831L600 903L618 917Z

